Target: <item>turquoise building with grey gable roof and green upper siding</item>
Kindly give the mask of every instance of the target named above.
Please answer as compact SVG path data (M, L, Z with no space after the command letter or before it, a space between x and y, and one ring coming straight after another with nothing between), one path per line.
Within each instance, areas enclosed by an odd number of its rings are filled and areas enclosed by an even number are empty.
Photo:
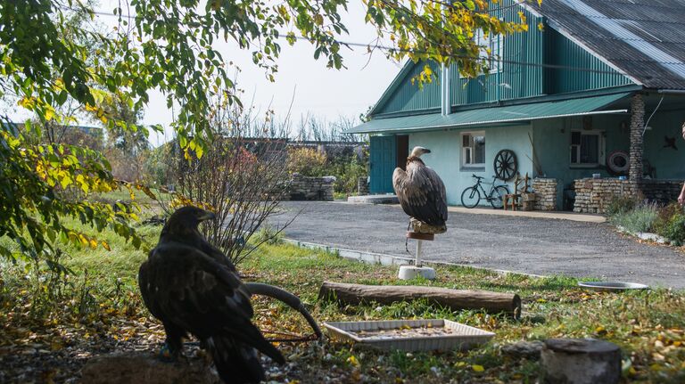
M529 31L484 40L498 53L489 75L432 64L435 81L419 89L411 78L425 63L409 61L369 121L348 131L370 135L371 193L392 192L392 171L416 145L432 151L425 162L452 205L473 175L491 180L502 150L521 176L557 180L557 209L569 208L575 180L595 174L625 176L636 191L685 179L685 0L505 0L500 9L506 20L524 12Z

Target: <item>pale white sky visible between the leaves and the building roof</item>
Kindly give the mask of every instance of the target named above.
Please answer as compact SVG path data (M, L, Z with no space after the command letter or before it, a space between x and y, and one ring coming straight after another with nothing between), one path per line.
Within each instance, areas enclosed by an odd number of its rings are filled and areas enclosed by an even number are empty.
M96 10L109 13L118 3L119 0L101 0ZM350 34L339 37L341 41L368 44L376 38L375 29L364 22L363 6L361 0L351 0L349 12L342 14ZM110 26L116 22L114 17L98 16L98 19ZM383 52L369 55L364 47L352 47L353 50L343 48L343 64L347 69L326 69L326 61L314 60L314 49L308 42L297 41L290 46L284 40L277 61L276 82L271 83L264 70L252 63L250 51L240 50L235 44L222 43L219 47L224 59L234 61L241 69L237 84L244 90L243 104L252 103L261 113L270 108L276 112L276 118L285 118L290 109L294 122L308 113L327 121L340 116L359 117L378 101L401 68L400 63L387 59ZM171 121L172 113L165 98L153 92L143 123L169 128ZM170 138L167 129L165 135L152 133L150 140L156 146Z

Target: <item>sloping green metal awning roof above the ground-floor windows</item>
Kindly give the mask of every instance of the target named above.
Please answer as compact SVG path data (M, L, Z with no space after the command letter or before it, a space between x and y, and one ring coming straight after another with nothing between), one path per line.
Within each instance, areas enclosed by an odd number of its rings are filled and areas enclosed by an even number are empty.
M440 113L407 116L402 118L376 118L353 127L345 133L370 134L381 132L409 132L435 130L453 127L473 127L528 122L542 118L564 118L568 116L621 113L624 109L600 110L631 93L605 94L572 100L534 102L504 107L463 110L442 116Z

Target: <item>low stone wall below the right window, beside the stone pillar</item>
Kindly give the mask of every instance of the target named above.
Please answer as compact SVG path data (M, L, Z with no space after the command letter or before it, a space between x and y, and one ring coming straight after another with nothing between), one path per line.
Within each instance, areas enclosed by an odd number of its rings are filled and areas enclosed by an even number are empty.
M666 204L678 199L682 181L642 180L640 190L630 180L579 179L574 182L574 212L606 213L615 196L640 196L646 200Z

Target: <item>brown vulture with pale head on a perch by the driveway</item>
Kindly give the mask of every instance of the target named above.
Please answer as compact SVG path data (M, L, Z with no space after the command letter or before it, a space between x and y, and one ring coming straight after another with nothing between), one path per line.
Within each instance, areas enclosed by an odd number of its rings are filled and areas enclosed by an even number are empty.
M445 184L421 159L421 155L430 152L414 147L407 158L407 171L397 167L392 173L392 186L407 215L429 225L443 226L447 221Z

